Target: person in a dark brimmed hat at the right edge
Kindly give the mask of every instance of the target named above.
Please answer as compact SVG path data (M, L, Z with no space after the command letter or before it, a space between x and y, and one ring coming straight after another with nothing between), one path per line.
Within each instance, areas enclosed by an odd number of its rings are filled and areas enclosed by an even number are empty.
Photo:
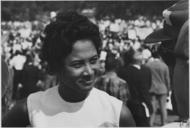
M172 70L172 93L179 121L189 119L189 1L180 0L163 11L164 26L145 38L145 43L162 42L160 54ZM172 61L171 61L172 58Z

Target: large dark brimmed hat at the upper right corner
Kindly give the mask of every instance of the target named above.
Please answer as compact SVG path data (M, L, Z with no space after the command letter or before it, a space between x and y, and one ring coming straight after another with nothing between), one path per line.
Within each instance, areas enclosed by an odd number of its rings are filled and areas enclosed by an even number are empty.
M145 38L145 43L175 40L181 26L188 19L188 0L181 0L163 11L164 25Z

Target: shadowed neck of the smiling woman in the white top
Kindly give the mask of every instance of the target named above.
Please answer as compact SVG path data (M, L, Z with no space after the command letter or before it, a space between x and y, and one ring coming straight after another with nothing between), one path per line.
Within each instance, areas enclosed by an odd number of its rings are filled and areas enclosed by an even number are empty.
M75 103L75 102L81 102L88 97L89 93L79 93L77 91L73 91L73 89L64 86L59 85L58 92L61 98L63 98L67 102Z

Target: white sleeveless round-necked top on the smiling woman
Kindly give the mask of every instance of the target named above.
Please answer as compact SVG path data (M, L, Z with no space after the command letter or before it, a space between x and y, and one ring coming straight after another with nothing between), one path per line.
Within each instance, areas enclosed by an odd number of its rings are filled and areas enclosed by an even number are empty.
M84 101L70 103L60 97L58 86L55 86L31 94L27 107L34 127L98 127L109 124L117 127L122 101L93 88Z

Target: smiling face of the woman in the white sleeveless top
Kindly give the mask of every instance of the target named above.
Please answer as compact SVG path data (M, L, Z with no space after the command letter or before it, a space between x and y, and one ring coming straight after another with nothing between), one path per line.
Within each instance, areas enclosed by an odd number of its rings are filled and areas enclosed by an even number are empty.
M99 68L98 53L90 40L78 40L64 61L63 86L74 92L88 93L94 86Z

